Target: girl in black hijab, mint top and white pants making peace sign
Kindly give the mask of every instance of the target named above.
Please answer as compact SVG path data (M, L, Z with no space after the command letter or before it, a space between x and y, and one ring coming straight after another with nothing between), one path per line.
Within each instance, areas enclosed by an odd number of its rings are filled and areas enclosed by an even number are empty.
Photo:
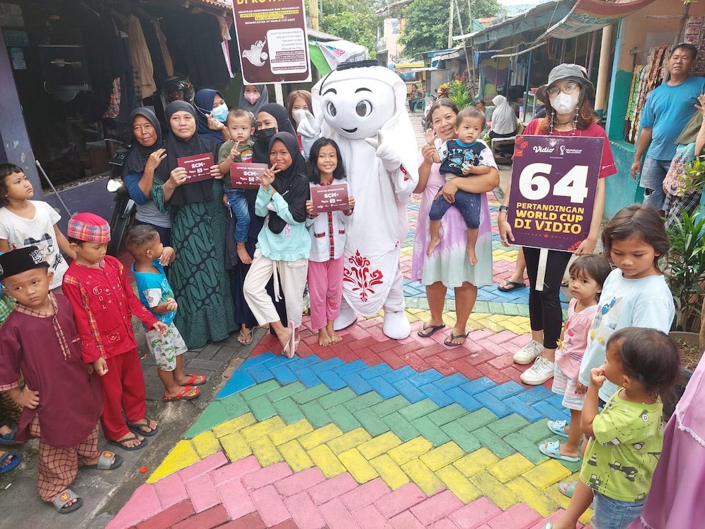
M291 358L299 342L298 331L304 309L306 271L309 268L311 237L306 229L306 200L309 183L299 142L289 132L279 132L270 141L270 166L260 176L255 213L265 217L257 238L257 249L245 278L245 299L260 325L270 324L282 352ZM265 288L273 278L275 292L285 295L288 325ZM275 298L278 296L275 295Z

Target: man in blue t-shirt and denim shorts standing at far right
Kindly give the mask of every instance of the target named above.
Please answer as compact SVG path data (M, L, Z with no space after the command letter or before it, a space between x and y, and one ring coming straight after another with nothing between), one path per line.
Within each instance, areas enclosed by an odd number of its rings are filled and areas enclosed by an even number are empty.
M691 77L697 48L689 42L676 45L668 59L669 79L646 98L641 113L641 131L636 142L631 178L641 173L644 203L663 209L663 178L675 156L675 140L692 117L698 96L705 93L705 78ZM648 147L648 150L647 150ZM643 168L641 157L646 152Z

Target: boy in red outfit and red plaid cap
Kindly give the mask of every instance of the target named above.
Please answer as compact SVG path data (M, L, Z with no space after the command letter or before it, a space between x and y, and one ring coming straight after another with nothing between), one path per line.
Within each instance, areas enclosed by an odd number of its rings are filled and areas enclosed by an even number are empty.
M146 416L132 314L161 334L168 327L134 295L122 263L105 255L110 242L105 219L93 213L74 215L68 235L76 260L64 274L63 288L74 308L83 360L101 376L103 433L110 444L139 450L147 445L144 436L154 436L157 425Z

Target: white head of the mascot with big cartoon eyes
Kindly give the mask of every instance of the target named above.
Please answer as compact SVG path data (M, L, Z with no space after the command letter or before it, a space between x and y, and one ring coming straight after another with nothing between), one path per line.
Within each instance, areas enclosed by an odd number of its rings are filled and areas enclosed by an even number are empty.
M377 61L341 64L317 86L316 115L350 139L373 137L386 123L406 116L406 85Z

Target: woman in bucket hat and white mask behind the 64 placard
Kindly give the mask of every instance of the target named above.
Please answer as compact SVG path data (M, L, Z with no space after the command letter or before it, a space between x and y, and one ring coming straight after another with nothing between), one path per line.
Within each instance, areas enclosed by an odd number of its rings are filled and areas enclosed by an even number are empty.
M525 135L604 138L590 231L587 238L575 249L575 255L592 254L595 250L604 210L604 178L617 173L607 134L600 125L597 125L597 116L592 110L590 98L593 93L592 83L585 78L583 69L577 64L559 64L551 70L548 84L537 90L537 98L546 101L546 118L532 120L524 131ZM512 227L507 221L512 185L517 185L517 182L511 182L508 186L497 221L504 246L510 246L514 241ZM528 385L543 384L554 376L556 347L563 327L561 280L571 259L571 253L568 251L549 250L543 290L537 290L539 251L537 248L524 246L530 285L529 320L532 339L514 355L514 361L517 364L534 363L521 376L522 382ZM587 391L586 387L578 387L578 389Z

